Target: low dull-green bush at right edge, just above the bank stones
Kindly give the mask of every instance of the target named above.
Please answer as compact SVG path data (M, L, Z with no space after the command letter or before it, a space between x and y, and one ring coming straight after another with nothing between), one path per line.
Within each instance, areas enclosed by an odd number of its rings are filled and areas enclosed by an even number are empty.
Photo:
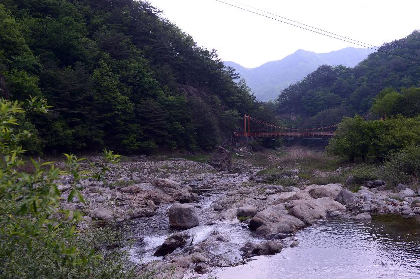
M383 177L391 186L419 183L420 146L410 146L387 156Z

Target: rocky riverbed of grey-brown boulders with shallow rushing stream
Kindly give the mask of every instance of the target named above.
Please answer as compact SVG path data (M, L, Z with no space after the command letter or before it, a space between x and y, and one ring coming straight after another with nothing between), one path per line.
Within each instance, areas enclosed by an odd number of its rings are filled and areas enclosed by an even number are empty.
M265 183L257 175L260 168L240 158L232 161L226 150L210 163L128 158L111 166L106 183L81 181L86 204L73 198L62 206L86 214L80 229L93 220L129 224L136 240L130 257L138 274L177 279L296 247L296 231L326 217L420 218L420 192L409 186L388 190L385 182L373 181L356 193L340 184L284 187ZM59 182L64 197L70 180L63 176Z

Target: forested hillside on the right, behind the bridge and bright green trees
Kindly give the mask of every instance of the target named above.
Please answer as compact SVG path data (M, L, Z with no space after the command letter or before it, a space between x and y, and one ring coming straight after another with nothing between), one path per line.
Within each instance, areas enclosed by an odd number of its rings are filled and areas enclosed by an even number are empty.
M380 50L385 52L370 54L354 68L320 66L281 92L277 112L299 126L335 124L343 116L366 113L385 88L420 86L420 31Z

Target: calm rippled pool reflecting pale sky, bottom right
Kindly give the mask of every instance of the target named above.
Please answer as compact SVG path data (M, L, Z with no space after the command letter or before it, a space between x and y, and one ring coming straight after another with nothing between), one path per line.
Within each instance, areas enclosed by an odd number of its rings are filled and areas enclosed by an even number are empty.
M324 219L296 235L297 248L255 257L218 279L420 278L420 225L400 216L368 222Z

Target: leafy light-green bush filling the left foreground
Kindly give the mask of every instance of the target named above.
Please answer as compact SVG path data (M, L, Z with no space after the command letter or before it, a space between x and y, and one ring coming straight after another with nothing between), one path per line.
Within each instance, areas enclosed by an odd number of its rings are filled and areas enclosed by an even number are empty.
M46 112L41 103L32 109ZM24 113L17 102L0 99L0 278L129 278L128 250L116 249L127 244L114 229L79 228L82 214L60 208L61 192L55 181L63 173L51 162L32 159L30 172L25 164L21 143L31 133L19 128L16 115ZM73 177L67 201L77 196L81 173L102 180L107 165L118 155L104 152L102 164L81 169L74 155L66 155ZM97 174L94 174L98 170ZM126 268L128 268L126 266Z

